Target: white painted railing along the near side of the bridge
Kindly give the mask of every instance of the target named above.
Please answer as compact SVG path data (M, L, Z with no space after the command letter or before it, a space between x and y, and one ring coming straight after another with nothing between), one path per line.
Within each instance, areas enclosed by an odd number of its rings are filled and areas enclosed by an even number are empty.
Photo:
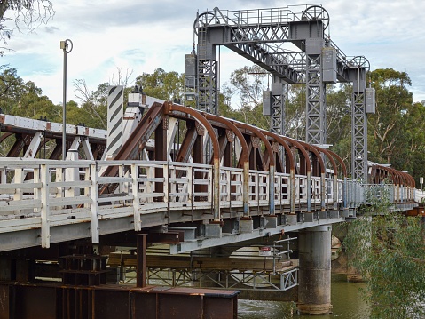
M114 167L116 176L100 176L99 171L106 167ZM212 211L213 169L207 164L159 161L0 158L0 233L38 228L43 247L48 247L51 227L88 222L93 242L97 243L102 219L130 217L134 229L140 230L146 214ZM276 172L274 187L270 187L268 171L249 171L246 181L242 169L224 167L220 168L219 179L221 209L244 207L246 182L249 207L261 212L293 203L303 207L311 207L312 203L318 209L318 205L336 201L342 207L344 200L347 207L355 208L365 201L365 186L352 180L329 177L322 185L319 177L295 175L291 185L289 174ZM270 192L274 193L272 203ZM395 203L412 201L414 195L412 189L395 186L390 186L390 194Z

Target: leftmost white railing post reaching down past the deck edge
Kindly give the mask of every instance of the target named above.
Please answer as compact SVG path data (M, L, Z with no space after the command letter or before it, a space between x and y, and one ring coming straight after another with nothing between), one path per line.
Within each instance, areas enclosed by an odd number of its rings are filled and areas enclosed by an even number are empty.
M51 246L51 229L50 229L50 209L49 209L49 167L46 164L40 165L40 179L42 187L40 189L40 200L42 203L41 209L41 236L42 236L42 247L50 248Z

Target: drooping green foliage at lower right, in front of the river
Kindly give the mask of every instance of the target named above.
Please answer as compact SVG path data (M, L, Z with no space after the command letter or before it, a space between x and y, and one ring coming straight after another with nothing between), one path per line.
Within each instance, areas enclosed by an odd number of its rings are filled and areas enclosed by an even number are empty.
M391 211L388 186L380 187L380 193L374 189L366 194L370 205L347 225L344 246L351 266L366 279L363 292L373 306L372 317L420 318L425 315L421 217Z

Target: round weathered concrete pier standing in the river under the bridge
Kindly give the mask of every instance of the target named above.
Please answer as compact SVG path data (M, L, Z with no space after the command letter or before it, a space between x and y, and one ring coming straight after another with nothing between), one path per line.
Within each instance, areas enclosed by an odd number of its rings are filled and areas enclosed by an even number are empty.
M331 307L331 226L318 226L298 233L298 311L327 314Z

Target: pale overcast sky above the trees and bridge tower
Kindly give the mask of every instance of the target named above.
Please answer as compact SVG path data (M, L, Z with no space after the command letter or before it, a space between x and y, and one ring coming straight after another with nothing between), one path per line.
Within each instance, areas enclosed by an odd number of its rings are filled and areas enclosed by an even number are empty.
M84 79L91 91L113 82L117 69L132 71L130 80L156 68L185 72L185 54L193 47L196 12L218 7L245 10L314 4L304 1L174 1L52 0L54 17L36 33L14 32L0 64L18 70L54 103L62 102L63 52L67 38L67 100L75 100L73 82ZM371 69L394 68L411 77L413 100L425 100L425 2L396 0L333 0L321 3L330 16L332 40L347 56L363 55ZM221 50L221 83L248 60Z

